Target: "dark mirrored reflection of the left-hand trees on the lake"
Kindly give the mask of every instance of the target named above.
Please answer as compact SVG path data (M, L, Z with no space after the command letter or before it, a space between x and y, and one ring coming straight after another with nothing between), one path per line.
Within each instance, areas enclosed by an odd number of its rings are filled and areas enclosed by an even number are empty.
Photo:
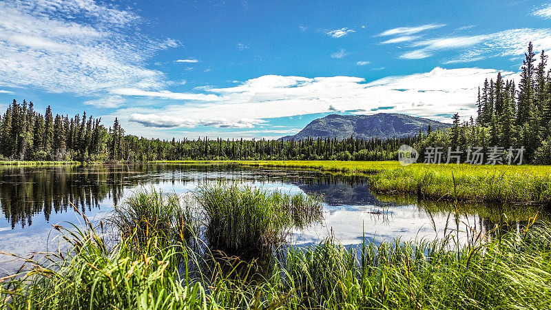
M82 211L107 196L116 204L125 179L135 173L123 167L0 167L0 206L12 229L24 228L39 214L49 221L52 211L66 212L70 202Z

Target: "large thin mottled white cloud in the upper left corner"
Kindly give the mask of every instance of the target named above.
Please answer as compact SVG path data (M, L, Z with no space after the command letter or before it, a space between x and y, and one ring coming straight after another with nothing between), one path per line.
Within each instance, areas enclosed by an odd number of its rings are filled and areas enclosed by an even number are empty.
M113 87L163 87L163 73L145 61L178 43L136 34L138 22L92 0L0 1L0 86L99 96Z

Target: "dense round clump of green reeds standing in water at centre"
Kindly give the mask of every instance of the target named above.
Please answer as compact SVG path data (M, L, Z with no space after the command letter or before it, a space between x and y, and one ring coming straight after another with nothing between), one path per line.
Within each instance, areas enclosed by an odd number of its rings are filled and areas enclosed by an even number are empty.
M200 187L197 199L209 247L231 255L262 254L281 245L292 227L322 217L320 198L235 183Z

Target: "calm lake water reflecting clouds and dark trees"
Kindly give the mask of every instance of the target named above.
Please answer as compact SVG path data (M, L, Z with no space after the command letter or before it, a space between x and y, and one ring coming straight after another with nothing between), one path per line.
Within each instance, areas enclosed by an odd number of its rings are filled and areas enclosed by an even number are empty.
M101 220L140 187L185 193L218 180L306 192L324 196L322 224L295 231L293 242L317 243L333 234L344 245L359 244L362 236L383 240L433 240L445 227L455 227L453 205L419 203L407 197L382 197L369 191L365 178L343 177L288 169L259 169L229 165L118 165L70 167L0 167L0 250L19 255L52 250L58 245L53 224L79 219L69 203L89 218ZM518 229L535 207L506 208L460 205L459 219L489 231L506 214L508 229ZM508 211L511 210L511 211ZM461 225L464 227L464 225ZM0 256L0 269L8 267Z

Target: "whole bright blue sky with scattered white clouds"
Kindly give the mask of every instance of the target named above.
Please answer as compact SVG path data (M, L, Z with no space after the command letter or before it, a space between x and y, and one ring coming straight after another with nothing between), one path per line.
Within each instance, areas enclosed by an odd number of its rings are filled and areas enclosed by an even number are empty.
M0 109L148 138L279 138L328 114L475 116L551 49L547 1L0 0Z

